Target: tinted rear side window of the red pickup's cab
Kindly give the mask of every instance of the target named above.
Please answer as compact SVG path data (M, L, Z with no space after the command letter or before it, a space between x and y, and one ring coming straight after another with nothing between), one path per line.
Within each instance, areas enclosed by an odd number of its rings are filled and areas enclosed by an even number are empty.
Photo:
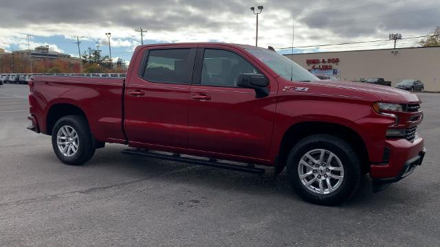
M149 82L190 83L193 64L191 49L151 50L143 78Z

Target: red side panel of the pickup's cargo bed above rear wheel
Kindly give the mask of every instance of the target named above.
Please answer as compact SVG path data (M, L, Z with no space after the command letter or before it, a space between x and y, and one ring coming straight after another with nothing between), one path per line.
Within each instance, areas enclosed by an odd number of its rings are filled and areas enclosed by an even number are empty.
M51 134L51 125L54 124L47 119L49 114L44 113L65 110L71 103L87 116L97 141L125 143L123 78L39 75L34 76L30 87L29 99L33 106L30 113L39 121L41 132Z

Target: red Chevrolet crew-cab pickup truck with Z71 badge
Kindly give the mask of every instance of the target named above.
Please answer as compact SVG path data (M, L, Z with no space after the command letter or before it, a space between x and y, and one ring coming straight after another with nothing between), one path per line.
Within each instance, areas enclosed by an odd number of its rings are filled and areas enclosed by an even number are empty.
M81 165L104 143L127 154L274 174L299 196L349 198L364 174L381 189L421 165L417 95L320 81L269 49L224 43L143 45L125 79L36 76L28 127Z

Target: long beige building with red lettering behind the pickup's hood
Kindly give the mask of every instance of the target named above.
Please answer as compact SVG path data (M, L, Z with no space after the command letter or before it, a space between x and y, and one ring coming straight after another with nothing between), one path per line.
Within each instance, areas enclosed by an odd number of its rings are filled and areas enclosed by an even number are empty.
M404 79L419 79L426 91L440 91L440 47L410 47L358 51L331 51L285 55L314 74L341 80L384 78L392 86Z

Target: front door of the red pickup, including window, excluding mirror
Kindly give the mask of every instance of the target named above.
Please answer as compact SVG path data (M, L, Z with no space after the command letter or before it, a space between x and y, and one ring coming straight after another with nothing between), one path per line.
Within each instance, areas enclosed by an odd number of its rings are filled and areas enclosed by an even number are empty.
M268 78L270 95L257 99L253 89L239 88L236 83L240 73L261 73L261 68L252 65L251 58L239 50L210 47L197 51L197 80L193 80L189 99L189 147L266 159L272 141L277 82Z

